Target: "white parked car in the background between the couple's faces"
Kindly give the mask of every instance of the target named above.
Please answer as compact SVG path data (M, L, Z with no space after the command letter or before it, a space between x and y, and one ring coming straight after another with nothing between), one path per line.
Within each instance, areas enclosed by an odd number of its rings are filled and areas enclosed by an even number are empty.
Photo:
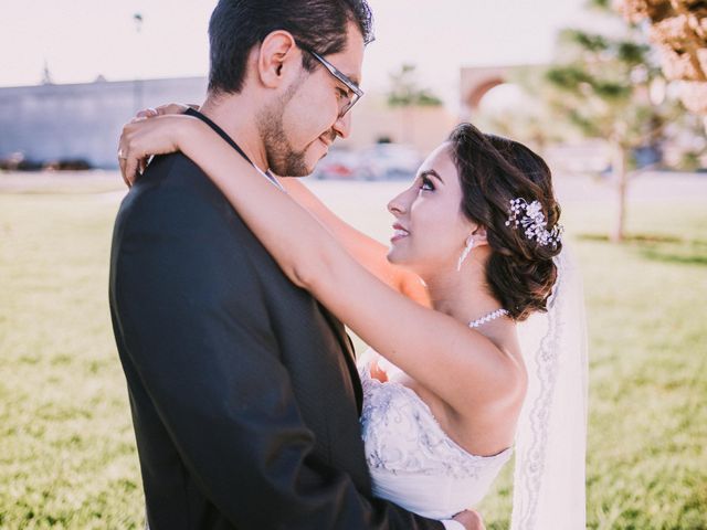
M359 151L356 174L365 180L411 179L421 163L412 146L377 144Z

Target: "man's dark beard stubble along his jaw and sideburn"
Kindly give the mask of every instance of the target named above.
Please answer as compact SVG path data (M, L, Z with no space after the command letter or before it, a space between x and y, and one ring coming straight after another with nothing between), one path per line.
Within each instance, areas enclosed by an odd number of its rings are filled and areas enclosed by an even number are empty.
M270 107L263 109L257 118L257 128L263 138L267 166L279 177L306 177L314 168L308 168L305 161L306 149L296 151L285 134L283 114L293 98L300 83L295 82L283 97Z

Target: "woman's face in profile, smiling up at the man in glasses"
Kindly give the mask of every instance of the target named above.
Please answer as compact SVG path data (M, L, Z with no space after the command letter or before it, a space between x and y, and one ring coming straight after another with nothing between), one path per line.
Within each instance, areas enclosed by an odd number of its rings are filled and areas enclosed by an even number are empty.
M388 252L391 263L420 276L452 273L475 225L462 213L462 188L450 145L420 166L412 186L388 203L395 216Z

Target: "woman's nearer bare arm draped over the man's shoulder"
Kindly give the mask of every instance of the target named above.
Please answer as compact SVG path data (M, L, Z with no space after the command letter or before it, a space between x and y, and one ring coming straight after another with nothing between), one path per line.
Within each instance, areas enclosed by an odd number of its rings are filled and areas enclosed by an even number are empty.
M169 121L167 121L169 120ZM198 163L296 285L367 343L458 412L515 400L521 367L482 333L376 278L331 233L272 186L201 120L163 116L127 125L127 174L146 153L177 148Z

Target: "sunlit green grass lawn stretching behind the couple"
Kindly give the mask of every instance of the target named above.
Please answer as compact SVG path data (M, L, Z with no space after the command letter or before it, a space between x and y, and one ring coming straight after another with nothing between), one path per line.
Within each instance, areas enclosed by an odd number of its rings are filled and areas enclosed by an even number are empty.
M395 187L355 186L316 188L386 239ZM107 304L118 198L53 191L0 192L0 528L141 528ZM707 210L636 202L623 246L601 239L603 203L564 218L589 309L589 527L707 529ZM489 528L507 528L509 475L482 507Z

